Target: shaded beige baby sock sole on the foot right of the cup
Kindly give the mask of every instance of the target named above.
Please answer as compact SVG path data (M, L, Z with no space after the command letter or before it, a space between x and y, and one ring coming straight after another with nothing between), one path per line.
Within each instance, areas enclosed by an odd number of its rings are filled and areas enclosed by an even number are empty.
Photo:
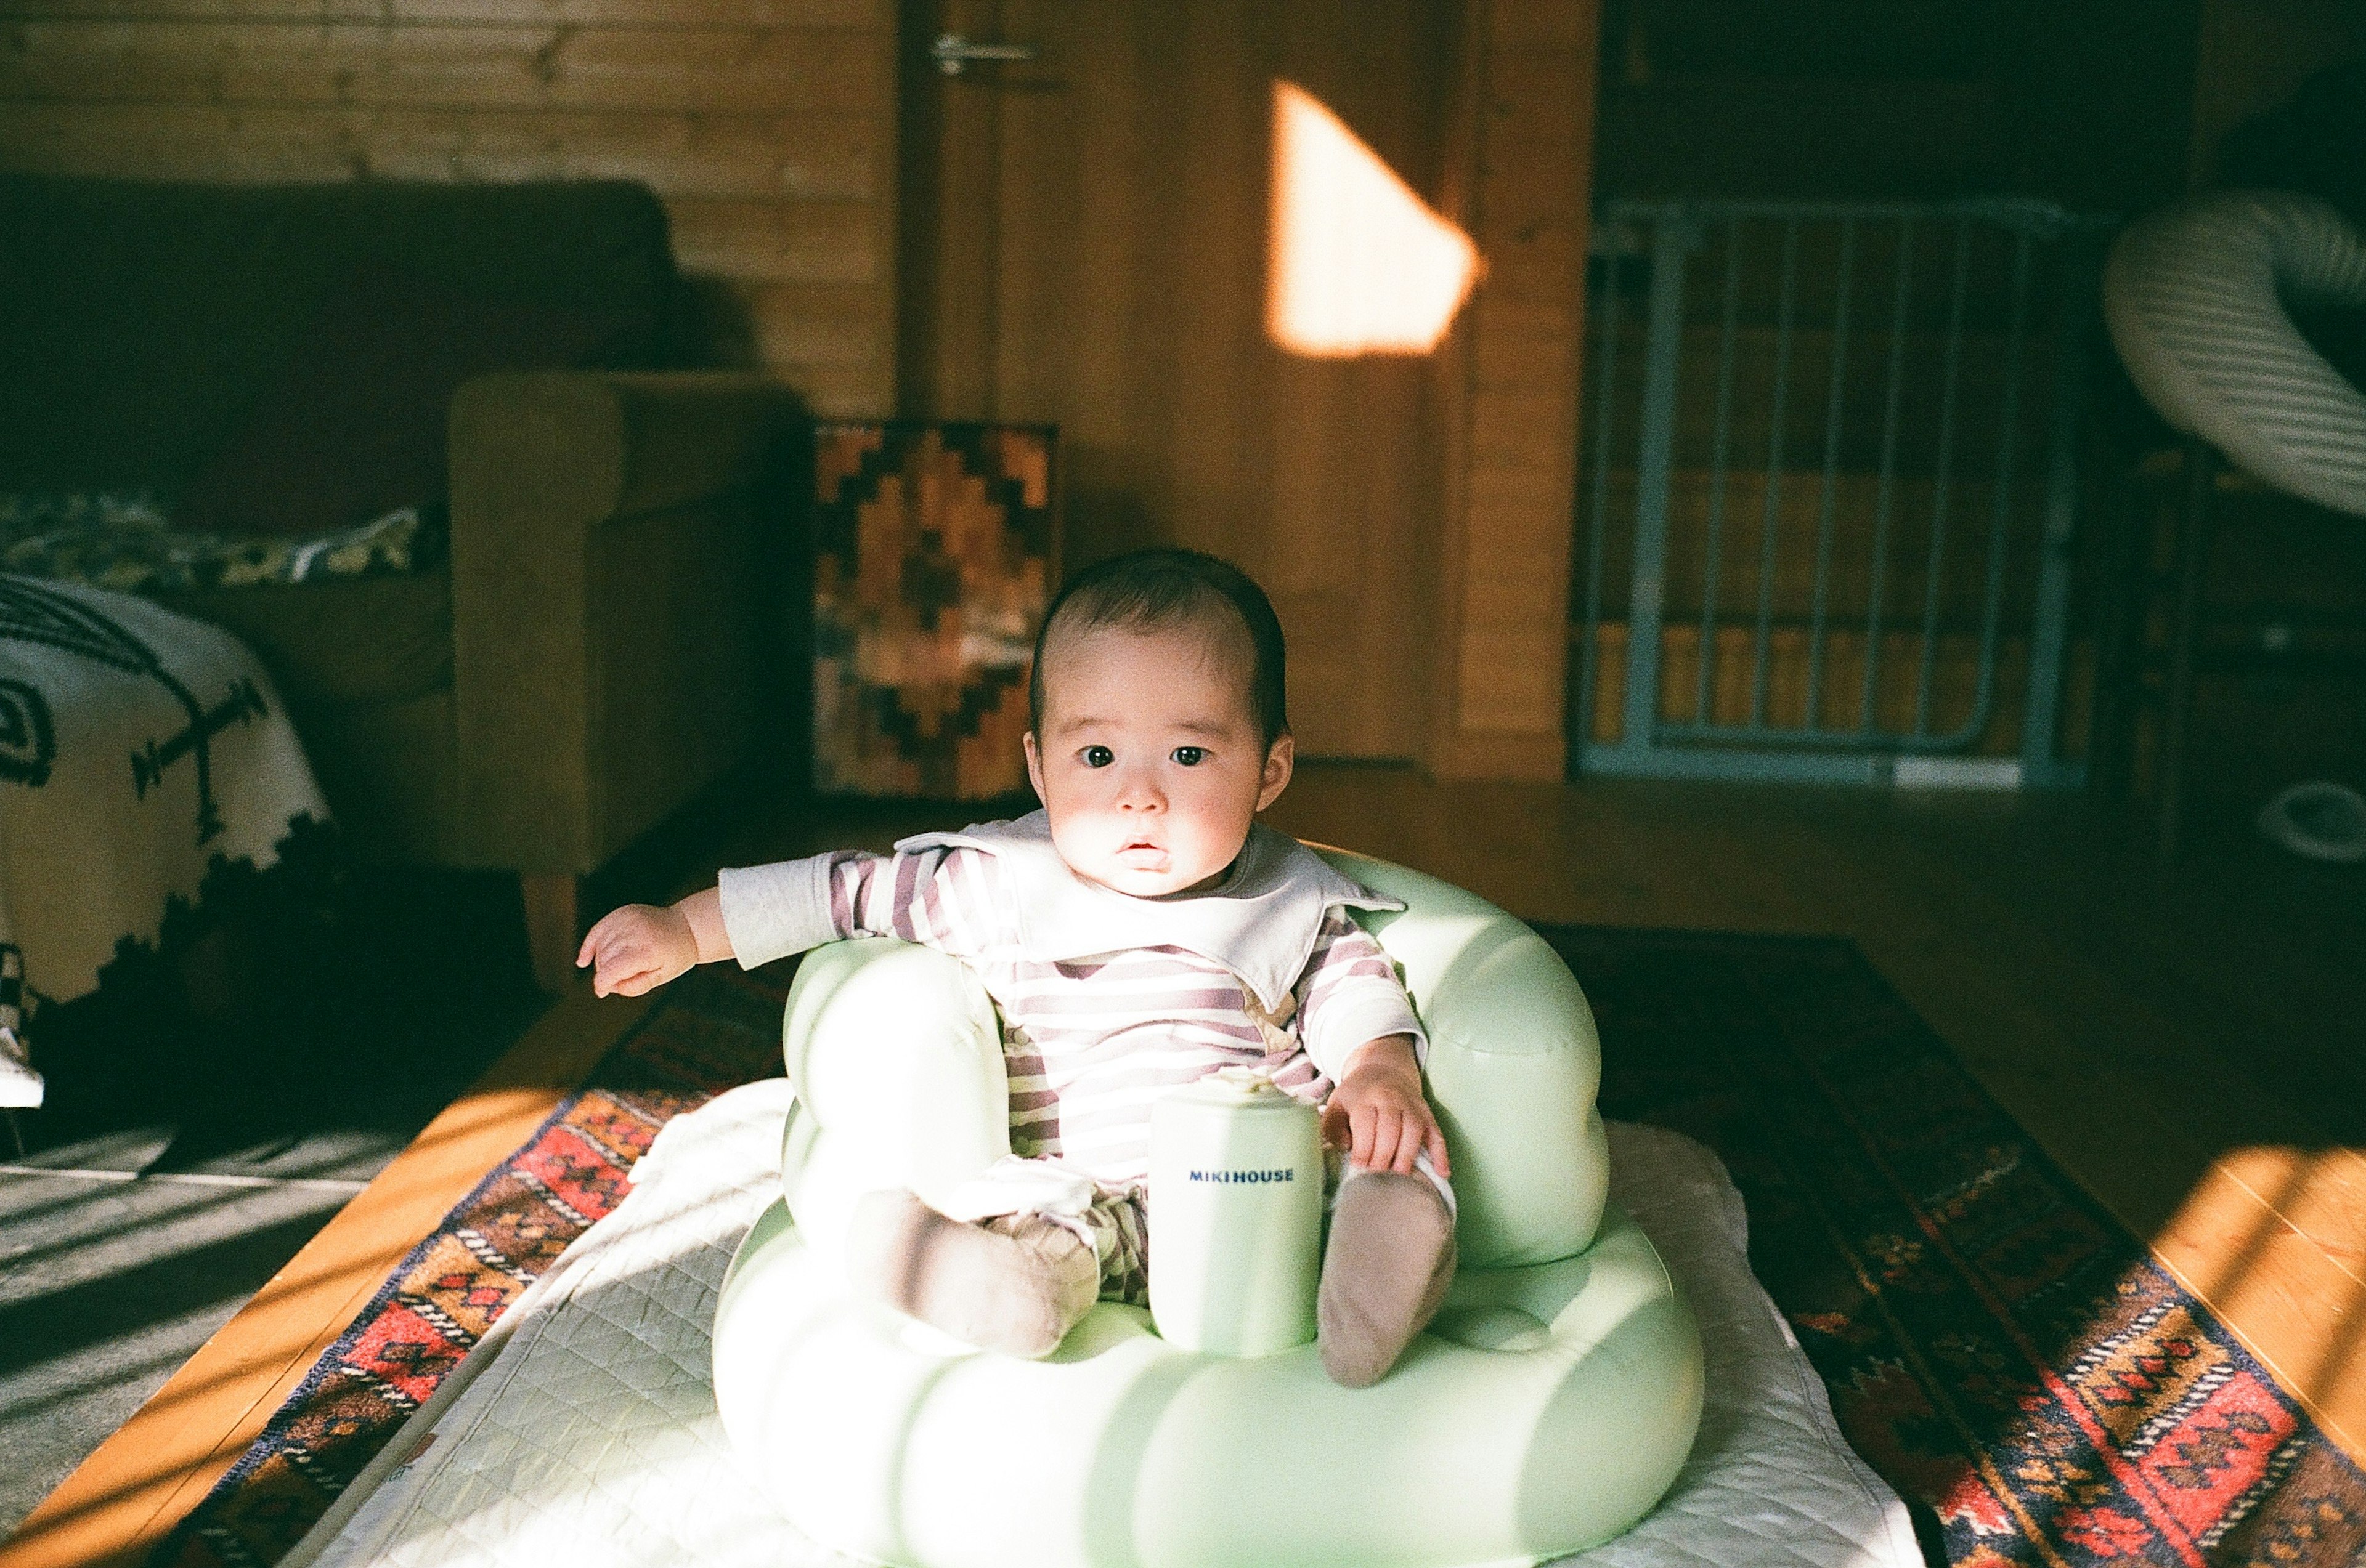
M1427 1175L1358 1171L1339 1183L1315 1296L1315 1348L1342 1388L1389 1374L1455 1277L1455 1216Z

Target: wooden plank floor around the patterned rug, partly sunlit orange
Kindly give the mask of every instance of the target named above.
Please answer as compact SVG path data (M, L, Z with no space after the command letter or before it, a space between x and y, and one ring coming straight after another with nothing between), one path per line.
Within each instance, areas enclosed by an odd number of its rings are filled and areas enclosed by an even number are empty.
M885 847L963 811L783 811L712 861ZM1308 766L1271 821L1531 920L1857 941L2047 1152L2366 1459L2366 870L2238 837L2172 877L2082 802ZM0 1568L130 1561L395 1258L636 1012L561 1000L447 1121L76 1471ZM504 1142L506 1138L506 1142ZM381 1192L386 1187L386 1192Z

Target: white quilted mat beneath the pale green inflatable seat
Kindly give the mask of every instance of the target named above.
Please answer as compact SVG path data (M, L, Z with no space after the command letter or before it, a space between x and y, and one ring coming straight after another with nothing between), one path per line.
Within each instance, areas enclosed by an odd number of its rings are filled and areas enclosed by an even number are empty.
M584 1232L412 1417L286 1568L819 1568L731 1464L707 1327L731 1249L778 1192L788 1083L672 1121ZM1841 1440L1824 1386L1744 1261L1741 1194L1677 1133L1611 1126L1611 1197L1651 1235L1708 1346L1675 1490L1588 1568L1919 1568L1905 1504Z

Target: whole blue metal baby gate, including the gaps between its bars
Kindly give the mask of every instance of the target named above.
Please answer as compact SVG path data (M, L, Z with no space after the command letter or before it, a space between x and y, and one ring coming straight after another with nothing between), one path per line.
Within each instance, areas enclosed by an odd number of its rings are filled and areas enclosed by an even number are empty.
M2082 776L2061 731L2101 227L2039 201L1602 210L1580 771Z

